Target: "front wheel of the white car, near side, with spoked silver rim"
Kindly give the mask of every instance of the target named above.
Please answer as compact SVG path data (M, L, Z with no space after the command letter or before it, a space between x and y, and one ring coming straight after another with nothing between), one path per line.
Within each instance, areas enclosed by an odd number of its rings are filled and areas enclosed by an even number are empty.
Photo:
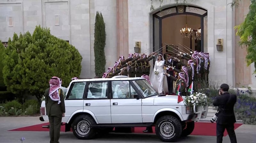
M160 117L156 121L156 135L164 142L175 142L180 138L182 125L180 120L172 115Z

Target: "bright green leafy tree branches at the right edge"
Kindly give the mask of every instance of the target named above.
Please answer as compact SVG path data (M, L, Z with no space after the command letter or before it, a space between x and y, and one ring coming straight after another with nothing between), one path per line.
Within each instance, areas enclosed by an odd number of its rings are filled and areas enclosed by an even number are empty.
M236 26L235 29L237 29L236 35L240 36L240 46L245 47L247 51L245 57L247 66L254 62L254 67L256 68L256 1L251 0L251 2L252 4L244 22ZM254 69L254 73L256 73L256 69Z

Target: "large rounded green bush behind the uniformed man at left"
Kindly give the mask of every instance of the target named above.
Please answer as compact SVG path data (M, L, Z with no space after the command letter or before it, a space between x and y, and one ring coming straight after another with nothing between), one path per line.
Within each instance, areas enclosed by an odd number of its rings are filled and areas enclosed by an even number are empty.
M67 87L70 79L81 72L78 50L40 26L32 36L29 32L19 37L14 33L4 54L4 83L8 91L22 96L36 95L40 99L52 76L60 77Z

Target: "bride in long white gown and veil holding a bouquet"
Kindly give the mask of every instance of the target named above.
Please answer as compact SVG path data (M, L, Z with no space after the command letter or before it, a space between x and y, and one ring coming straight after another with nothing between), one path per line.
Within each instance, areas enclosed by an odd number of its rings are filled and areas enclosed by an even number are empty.
M150 75L150 81L156 91L158 91L159 94L164 94L165 93L165 88L164 88L164 57L162 54L157 55L157 59L155 62L154 66L154 72L152 72ZM166 84L167 85L167 84ZM168 87L166 86L168 89Z

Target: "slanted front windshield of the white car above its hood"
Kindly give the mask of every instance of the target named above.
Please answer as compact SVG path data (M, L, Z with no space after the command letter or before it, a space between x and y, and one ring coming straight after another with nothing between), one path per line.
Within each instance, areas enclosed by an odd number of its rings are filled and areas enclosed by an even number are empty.
M135 84L135 86L139 89L139 92L144 97L158 95L158 93L154 90L154 88L151 87L145 79L134 80L132 82Z

